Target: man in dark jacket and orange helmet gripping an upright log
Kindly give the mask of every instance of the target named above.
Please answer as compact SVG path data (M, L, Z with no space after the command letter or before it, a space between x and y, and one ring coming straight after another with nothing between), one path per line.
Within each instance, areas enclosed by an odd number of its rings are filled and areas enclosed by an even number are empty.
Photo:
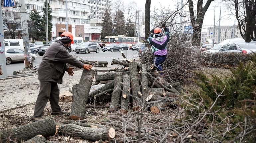
M77 60L71 54L68 54L67 48L73 42L72 33L65 31L62 33L60 40L56 40L46 51L38 68L38 79L40 80L40 90L37 97L33 121L42 120L43 112L48 99L52 108L52 115L62 115L65 111L62 111L59 106L60 89L57 84L62 84L62 78L65 71L68 75L73 75L72 69L74 67L68 67L66 63L76 66L78 68L84 68L90 70L91 65L83 64Z

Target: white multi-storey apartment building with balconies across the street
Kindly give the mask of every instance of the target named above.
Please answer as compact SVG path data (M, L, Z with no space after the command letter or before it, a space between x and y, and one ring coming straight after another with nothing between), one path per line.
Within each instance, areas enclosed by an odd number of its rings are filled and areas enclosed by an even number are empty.
M48 0L52 9L52 40L59 37L64 31L71 32L74 36L82 36L86 41L98 41L100 39L102 17L105 9L111 5L112 0L67 0L67 20L66 1ZM43 16L45 0L25 0L28 13L33 7ZM16 2L19 6L19 0ZM4 8L3 11L16 11L16 8ZM66 21L68 29L66 29ZM5 29L5 31L8 29ZM6 32L8 35L8 32ZM21 33L21 32L19 32ZM6 36L5 38L11 39ZM18 36L17 39L20 37Z

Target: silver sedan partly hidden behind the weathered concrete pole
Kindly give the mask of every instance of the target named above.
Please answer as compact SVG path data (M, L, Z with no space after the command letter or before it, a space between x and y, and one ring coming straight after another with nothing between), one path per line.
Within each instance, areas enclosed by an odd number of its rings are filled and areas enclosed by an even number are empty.
M30 54L30 62L34 62L37 59L37 55L31 53ZM24 61L24 51L18 48L6 48L5 49L5 59L6 64L11 64L16 61Z

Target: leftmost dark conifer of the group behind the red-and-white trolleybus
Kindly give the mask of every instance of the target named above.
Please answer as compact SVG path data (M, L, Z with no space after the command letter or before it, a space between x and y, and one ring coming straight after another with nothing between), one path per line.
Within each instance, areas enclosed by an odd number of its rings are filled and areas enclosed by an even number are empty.
M110 10L109 8L106 8L105 9L105 13L104 13L104 17L102 17L102 23L101 23L101 26L102 26L102 30L101 30L101 37L100 39L102 41L105 40L105 37L106 36L112 36L113 33L112 33L112 30L113 30L113 23L112 23L112 17L111 17L111 13L110 13Z

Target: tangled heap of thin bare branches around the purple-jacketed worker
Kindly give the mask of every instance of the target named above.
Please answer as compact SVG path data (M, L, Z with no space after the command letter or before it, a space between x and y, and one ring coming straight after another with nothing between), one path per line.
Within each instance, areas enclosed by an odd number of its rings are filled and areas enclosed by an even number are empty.
M188 33L170 35L170 41L167 44L168 54L162 65L164 78L168 82L187 82L190 78L195 78L193 70L199 67L199 49L192 48L190 39ZM152 48L148 45L139 62L152 65L153 57Z

